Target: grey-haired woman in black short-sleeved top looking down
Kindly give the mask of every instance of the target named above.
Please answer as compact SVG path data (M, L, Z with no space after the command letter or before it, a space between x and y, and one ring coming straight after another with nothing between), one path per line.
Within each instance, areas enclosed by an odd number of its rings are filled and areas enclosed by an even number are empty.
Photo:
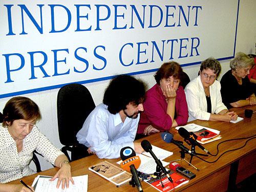
M253 87L247 76L254 66L253 58L242 52L230 61L231 70L221 78L221 96L228 109L256 104Z

